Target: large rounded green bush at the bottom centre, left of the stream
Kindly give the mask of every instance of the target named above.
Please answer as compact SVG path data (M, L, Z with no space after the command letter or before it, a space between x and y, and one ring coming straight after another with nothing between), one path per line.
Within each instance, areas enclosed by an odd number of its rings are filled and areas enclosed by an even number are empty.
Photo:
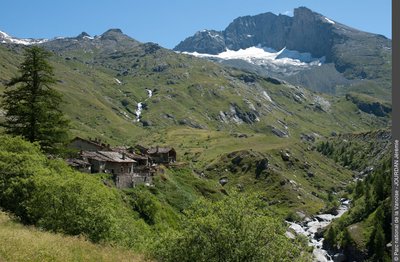
M309 261L306 243L290 240L285 226L267 216L256 197L237 193L212 203L196 201L179 230L152 247L160 261Z

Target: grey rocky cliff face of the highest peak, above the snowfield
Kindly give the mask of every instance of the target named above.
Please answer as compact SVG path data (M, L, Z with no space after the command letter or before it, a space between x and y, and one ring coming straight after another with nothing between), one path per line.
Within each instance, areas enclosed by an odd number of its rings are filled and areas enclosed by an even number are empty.
M239 17L224 31L203 30L174 50L215 55L258 45L325 57L326 63L334 63L348 79L383 77L386 81L390 75L389 67L383 65L390 64L391 40L350 28L306 7L296 8L293 17L273 13Z

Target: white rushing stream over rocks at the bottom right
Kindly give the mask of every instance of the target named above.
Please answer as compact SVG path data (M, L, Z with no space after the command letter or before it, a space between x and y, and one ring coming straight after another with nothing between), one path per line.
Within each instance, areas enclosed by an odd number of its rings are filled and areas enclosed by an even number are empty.
M328 254L326 250L322 248L323 238L318 238L316 233L321 229L327 227L333 219L341 217L348 209L350 201L347 199L341 199L341 205L338 208L337 215L331 214L321 214L316 215L313 220L308 220L305 222L294 223L288 222L290 224L289 228L292 229L296 234L301 234L309 239L309 245L314 247L313 256L314 261L317 262L329 262L333 261L332 257Z

